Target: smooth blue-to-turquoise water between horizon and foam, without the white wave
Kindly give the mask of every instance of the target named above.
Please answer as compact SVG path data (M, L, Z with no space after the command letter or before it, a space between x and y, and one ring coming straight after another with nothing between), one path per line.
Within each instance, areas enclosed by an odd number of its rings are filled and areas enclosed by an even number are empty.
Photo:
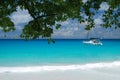
M102 40L103 45L83 40L0 40L0 66L67 65L120 61L120 40Z

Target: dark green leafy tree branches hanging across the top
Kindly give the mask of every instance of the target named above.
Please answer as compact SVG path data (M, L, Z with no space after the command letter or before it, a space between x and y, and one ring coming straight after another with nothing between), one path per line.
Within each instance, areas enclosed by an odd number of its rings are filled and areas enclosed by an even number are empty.
M0 27L3 31L15 30L10 15L17 7L28 10L33 18L24 26L21 34L25 39L50 38L53 26L60 28L59 22L68 18L87 22L86 30L95 27L94 16L99 13L101 3L109 5L103 11L101 26L120 28L120 0L0 0ZM83 16L84 15L84 16ZM51 39L51 38L50 38Z

